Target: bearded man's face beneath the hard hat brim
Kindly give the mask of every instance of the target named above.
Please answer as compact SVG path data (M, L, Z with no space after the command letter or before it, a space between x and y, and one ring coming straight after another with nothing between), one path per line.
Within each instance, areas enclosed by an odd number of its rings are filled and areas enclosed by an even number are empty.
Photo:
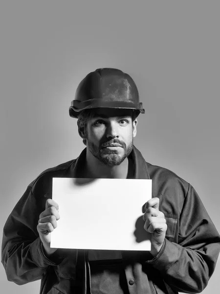
M97 108L86 128L88 149L104 164L120 165L132 151L136 123L129 109Z

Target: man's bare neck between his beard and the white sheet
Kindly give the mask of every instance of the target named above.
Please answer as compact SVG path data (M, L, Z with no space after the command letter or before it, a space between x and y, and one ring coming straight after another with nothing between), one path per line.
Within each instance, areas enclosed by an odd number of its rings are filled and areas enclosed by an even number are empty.
M85 174L87 178L125 179L128 175L128 158L118 166L108 166L92 155L87 147Z

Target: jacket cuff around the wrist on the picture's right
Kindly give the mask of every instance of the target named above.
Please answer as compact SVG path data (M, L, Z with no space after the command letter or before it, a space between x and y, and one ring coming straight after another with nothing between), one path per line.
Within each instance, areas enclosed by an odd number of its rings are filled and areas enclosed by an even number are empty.
M178 256L178 247L164 239L164 243L158 252L158 254L152 259L146 261L146 263L151 264L154 269L167 271L176 262Z

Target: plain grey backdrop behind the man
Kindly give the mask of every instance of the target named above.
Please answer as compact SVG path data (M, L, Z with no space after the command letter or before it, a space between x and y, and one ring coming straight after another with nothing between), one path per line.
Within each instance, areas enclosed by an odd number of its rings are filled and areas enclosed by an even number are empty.
M135 146L189 181L220 231L219 11L201 0L1 1L1 232L26 186L84 148L68 107L100 67L131 74L146 109ZM220 262L203 294L219 276ZM17 286L0 266L0 285L38 294L40 282Z

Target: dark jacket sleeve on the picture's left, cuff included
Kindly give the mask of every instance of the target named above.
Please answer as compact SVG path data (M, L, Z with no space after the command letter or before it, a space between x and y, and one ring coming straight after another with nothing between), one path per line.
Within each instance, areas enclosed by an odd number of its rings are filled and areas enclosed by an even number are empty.
M48 266L56 265L44 255L37 232L43 204L36 202L28 186L3 228L1 262L7 279L18 285L41 279Z

